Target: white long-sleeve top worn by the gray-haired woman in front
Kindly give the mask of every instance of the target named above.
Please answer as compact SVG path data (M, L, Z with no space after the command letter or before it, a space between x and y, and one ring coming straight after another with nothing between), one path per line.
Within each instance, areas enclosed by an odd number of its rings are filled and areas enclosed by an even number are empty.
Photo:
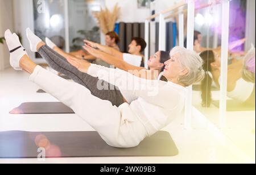
M130 105L119 106L119 109L122 113L132 110L144 124L148 136L183 114L187 93L183 86L172 82L146 80L120 69L109 69L94 64L89 67L88 74L117 86L121 92L125 91L124 94L129 93L137 98Z

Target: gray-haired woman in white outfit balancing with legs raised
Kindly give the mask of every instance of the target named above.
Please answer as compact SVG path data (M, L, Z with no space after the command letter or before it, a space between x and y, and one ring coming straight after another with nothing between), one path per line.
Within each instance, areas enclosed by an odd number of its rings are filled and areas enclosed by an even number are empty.
M70 60L81 72L99 77L138 97L130 104L123 103L117 107L109 101L94 97L86 87L64 80L36 65L15 34L7 31L5 38L13 68L30 73L32 82L71 107L112 147L135 147L144 138L155 134L183 114L186 87L201 81L205 75L200 56L180 47L172 49L171 59L164 64L164 76L168 82L146 80L123 70L90 63L80 67ZM43 46L39 39L31 40L35 49Z

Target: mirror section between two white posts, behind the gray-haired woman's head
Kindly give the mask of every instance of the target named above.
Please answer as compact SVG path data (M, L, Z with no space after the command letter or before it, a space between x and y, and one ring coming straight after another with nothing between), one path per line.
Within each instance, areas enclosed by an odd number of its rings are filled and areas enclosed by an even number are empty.
M204 7L205 1L197 2L195 12L194 51L204 61L205 78L193 85L193 105L204 115L217 116L213 99L219 99L221 55L221 4ZM202 9L200 7L203 7ZM185 41L186 42L186 41ZM209 117L209 116L208 116Z

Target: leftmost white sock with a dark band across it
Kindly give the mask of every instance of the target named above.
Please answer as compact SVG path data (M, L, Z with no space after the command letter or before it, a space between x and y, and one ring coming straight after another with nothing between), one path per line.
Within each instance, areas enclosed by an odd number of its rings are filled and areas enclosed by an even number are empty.
M27 52L22 47L18 35L11 34L11 31L7 30L5 32L5 40L10 51L10 65L15 70L22 70L19 66L19 61L24 55L27 55Z

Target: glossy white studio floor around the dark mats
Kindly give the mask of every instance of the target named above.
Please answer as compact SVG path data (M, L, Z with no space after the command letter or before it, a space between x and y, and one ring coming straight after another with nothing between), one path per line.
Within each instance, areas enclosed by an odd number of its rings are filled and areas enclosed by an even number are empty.
M28 74L7 69L0 72L0 131L93 131L75 114L11 115L9 111L23 102L55 102L49 94L38 94L38 86ZM210 115L200 108L194 92L192 130L184 130L183 116L164 131L170 132L179 148L176 157L88 157L73 159L0 159L0 163L255 163L255 113L229 113L228 127L220 130L217 109ZM3 140L1 140L3 141Z

